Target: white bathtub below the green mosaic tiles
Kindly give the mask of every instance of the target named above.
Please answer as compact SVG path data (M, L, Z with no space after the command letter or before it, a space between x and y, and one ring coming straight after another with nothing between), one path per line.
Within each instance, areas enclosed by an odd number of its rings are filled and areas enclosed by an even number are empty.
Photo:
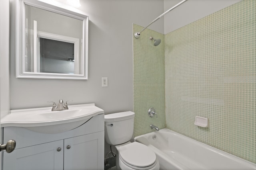
M160 163L160 170L256 170L256 164L252 162L169 129L135 137L134 141L154 150Z

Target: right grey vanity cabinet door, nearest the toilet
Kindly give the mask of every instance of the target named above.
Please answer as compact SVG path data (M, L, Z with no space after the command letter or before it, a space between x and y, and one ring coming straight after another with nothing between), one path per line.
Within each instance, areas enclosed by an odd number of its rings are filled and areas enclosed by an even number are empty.
M64 139L64 170L103 169L104 131Z

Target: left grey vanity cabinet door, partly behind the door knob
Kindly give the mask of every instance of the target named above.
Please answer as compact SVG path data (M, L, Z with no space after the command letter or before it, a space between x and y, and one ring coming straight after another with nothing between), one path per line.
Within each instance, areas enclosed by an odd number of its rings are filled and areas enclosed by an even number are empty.
M63 170L63 153L63 140L4 152L3 170Z

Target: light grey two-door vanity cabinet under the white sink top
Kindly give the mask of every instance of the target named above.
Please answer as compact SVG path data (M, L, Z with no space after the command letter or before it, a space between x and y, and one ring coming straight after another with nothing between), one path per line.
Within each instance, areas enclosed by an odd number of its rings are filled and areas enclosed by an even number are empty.
M13 152L3 153L3 170L104 169L104 114L64 133L4 127L3 136L16 141Z

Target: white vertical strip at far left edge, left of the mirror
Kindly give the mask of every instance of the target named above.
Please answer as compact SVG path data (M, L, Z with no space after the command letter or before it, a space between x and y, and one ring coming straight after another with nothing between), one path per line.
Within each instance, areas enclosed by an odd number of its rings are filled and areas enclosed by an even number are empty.
M9 95L9 1L0 0L0 116L10 110Z

